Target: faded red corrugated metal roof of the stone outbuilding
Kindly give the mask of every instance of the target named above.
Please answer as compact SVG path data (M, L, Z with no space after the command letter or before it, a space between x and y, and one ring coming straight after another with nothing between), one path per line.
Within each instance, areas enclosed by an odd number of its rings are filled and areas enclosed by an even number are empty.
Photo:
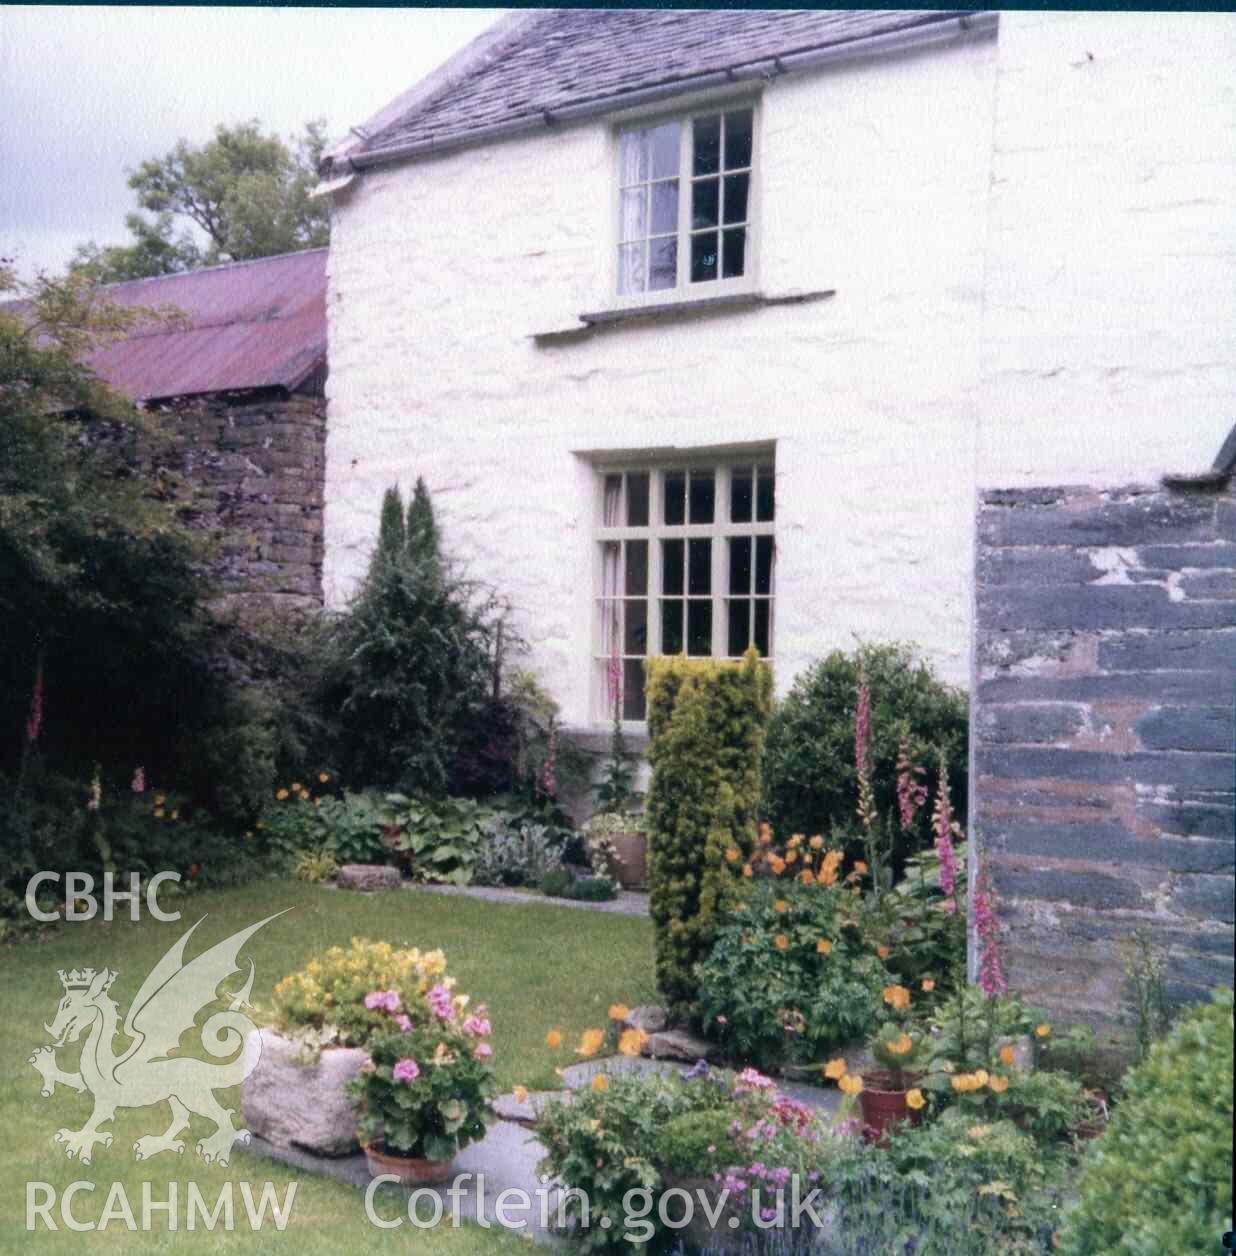
M138 401L295 388L327 355L327 250L111 284L121 305L175 305L183 330L143 332L89 364Z

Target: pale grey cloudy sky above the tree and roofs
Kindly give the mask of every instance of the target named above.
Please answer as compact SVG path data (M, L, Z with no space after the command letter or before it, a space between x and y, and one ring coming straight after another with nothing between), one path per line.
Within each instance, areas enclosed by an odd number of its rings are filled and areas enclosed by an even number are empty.
M343 134L504 11L0 5L0 255L123 244L127 166L252 117Z

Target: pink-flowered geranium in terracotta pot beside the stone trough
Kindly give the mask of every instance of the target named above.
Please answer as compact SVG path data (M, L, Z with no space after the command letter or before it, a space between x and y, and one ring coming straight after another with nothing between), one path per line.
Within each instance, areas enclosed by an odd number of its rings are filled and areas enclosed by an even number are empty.
M374 1177L445 1182L456 1154L494 1120L490 1022L484 1007L469 1011L452 985L443 978L413 997L374 990L366 999L387 1025L345 1089Z

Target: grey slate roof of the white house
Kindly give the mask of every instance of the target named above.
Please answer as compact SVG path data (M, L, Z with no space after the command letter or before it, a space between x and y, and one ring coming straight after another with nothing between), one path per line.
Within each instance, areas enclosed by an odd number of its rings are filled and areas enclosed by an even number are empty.
M458 80L371 134L360 152L442 143L564 106L924 26L975 10L546 9Z

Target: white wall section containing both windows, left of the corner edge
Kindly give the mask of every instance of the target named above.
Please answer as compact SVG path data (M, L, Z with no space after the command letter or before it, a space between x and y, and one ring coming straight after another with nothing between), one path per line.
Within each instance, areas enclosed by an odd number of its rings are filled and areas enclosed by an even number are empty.
M589 723L595 480L580 451L776 445L784 690L854 634L968 671L973 436L994 40L774 82L759 286L832 300L533 333L610 300L609 128L378 168L330 249L328 602L383 489L423 475L448 548L510 598Z

